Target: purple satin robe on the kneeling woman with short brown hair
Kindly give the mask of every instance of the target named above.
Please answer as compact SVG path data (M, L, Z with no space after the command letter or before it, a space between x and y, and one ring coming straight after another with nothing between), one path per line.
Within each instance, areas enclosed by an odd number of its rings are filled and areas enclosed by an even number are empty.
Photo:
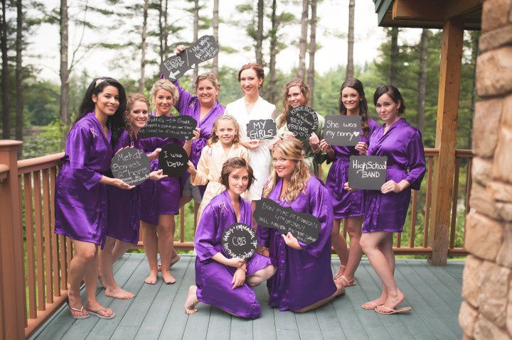
M252 225L250 202L242 198L240 198L240 215L238 222ZM227 190L213 197L204 209L195 240L197 297L201 302L238 317L256 319L261 315L261 307L252 287L245 283L234 290L231 289L233 287L231 280L236 268L211 259L219 252L228 258L222 247L221 238L223 231L236 222L235 210ZM247 261L246 275L252 275L270 264L270 258L255 254Z

